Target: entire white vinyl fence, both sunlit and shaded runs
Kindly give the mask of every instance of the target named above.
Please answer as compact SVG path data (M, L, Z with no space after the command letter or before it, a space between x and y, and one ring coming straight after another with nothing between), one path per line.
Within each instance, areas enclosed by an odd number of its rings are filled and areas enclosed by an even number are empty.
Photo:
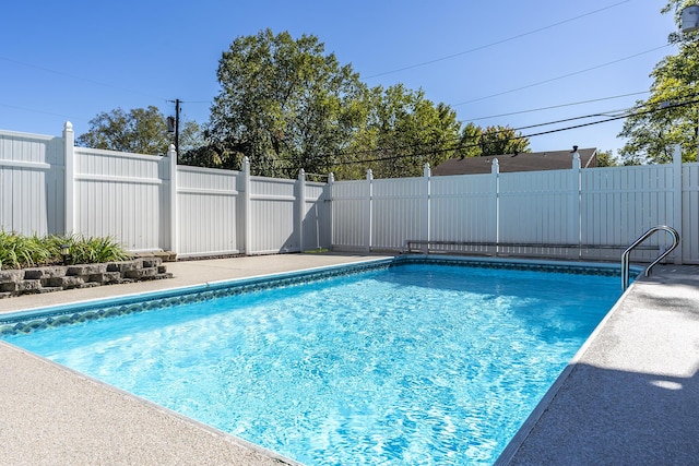
M180 256L440 250L618 260L647 229L682 236L675 262L699 263L699 164L308 182L179 166L167 156L0 132L0 229L111 236ZM410 242L410 243L408 243ZM633 260L668 246L653 236Z

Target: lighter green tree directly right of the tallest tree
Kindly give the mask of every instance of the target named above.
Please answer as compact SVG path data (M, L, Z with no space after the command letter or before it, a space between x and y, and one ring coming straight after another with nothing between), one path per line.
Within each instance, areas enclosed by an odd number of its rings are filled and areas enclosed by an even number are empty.
M457 113L425 98L422 89L374 87L365 110L366 121L352 146L335 157L339 179L363 178L369 168L376 178L422 176L425 164L435 167L454 152Z

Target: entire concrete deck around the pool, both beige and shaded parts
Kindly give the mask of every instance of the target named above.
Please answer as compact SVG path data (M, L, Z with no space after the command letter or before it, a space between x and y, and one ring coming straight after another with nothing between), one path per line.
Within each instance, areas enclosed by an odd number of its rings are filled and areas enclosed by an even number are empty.
M168 263L174 278L0 300L0 312L357 262L285 254ZM4 464L294 464L0 342ZM699 458L699 266L637 280L498 461L694 464Z

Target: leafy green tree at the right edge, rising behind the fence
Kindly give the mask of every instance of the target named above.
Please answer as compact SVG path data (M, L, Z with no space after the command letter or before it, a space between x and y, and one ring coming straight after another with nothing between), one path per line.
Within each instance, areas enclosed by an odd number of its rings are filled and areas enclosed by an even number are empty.
M679 28L682 9L687 1L671 0L662 13L674 12ZM620 138L628 142L619 151L625 165L666 163L674 146L683 146L683 158L696 160L699 113L699 35L676 32L670 43L679 47L676 56L662 59L653 69L648 99L638 100L627 118Z

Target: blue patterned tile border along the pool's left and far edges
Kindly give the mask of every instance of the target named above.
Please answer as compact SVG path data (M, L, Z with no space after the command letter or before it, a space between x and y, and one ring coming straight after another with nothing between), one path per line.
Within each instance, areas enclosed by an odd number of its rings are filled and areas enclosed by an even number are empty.
M169 291L141 295L134 297L116 298L111 300L90 301L79 304L68 304L57 308L45 308L35 311L23 311L0 316L0 337L26 334L37 330L70 325L144 312L156 308L168 308L209 299L241 295L246 292L263 291L286 286L303 285L309 282L330 279L339 276L354 275L363 272L378 271L408 264L436 264L449 266L470 266L478 268L503 268L517 271L556 272L580 275L619 276L620 270L609 265L591 265L554 262L525 261L489 261L469 258L433 255L404 255L393 259L364 262L342 266L323 267L318 270L292 272L268 275L241 280L221 282L190 288L179 288ZM631 276L640 270L633 268Z

